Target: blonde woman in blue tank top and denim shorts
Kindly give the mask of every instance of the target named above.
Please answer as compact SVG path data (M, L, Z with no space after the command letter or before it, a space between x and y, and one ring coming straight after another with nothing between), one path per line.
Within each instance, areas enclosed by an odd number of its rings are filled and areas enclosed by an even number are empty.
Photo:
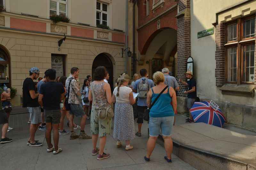
M164 74L162 72L157 71L154 73L153 80L156 86L148 91L148 108L151 106L153 101L156 100L158 94L166 87L164 84ZM172 162L171 154L173 146L171 133L176 109L176 93L172 87L168 87L156 100L149 112L149 139L147 144L147 155L144 157L145 161L149 161L161 129L162 136L164 138L164 146L166 146L166 156L164 156L164 159L166 159L167 162Z

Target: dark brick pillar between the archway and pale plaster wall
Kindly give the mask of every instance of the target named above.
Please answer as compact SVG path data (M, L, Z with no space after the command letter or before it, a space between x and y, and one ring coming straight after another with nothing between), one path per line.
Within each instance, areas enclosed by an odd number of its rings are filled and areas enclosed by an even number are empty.
M189 0L179 1L179 10L189 8ZM186 80L185 72L187 71L187 60L191 56L190 40L190 16L180 16L177 19L177 77L183 81ZM180 90L178 96L185 97L183 91L188 87L179 83Z

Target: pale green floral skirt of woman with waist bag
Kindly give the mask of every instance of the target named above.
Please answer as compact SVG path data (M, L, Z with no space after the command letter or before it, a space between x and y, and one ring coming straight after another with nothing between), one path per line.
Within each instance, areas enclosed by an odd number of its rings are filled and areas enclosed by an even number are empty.
M96 111L92 108L91 112L91 132L92 135L99 135L99 137L108 136L111 131L112 118L107 118L103 121L95 116Z

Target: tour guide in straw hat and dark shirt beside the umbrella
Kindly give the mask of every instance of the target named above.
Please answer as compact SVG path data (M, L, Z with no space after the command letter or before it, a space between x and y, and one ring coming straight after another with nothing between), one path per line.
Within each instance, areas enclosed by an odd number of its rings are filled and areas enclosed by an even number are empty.
M191 71L187 71L185 74L186 74L186 78L189 79L188 82L184 82L181 79L180 79L180 82L183 85L188 86L188 91L184 91L184 93L188 95L187 107L188 107L188 112L189 112L189 118L186 119L186 123L191 123L191 122L193 122L193 117L192 117L189 109L193 106L193 104L196 100L196 80L193 77Z

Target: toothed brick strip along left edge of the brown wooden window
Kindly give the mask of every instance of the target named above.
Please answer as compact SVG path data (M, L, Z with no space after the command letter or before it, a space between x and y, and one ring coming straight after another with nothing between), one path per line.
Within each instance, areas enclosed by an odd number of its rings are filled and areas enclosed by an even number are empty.
M221 87L225 82L225 26L224 24L219 24L215 28L215 78L216 86Z

